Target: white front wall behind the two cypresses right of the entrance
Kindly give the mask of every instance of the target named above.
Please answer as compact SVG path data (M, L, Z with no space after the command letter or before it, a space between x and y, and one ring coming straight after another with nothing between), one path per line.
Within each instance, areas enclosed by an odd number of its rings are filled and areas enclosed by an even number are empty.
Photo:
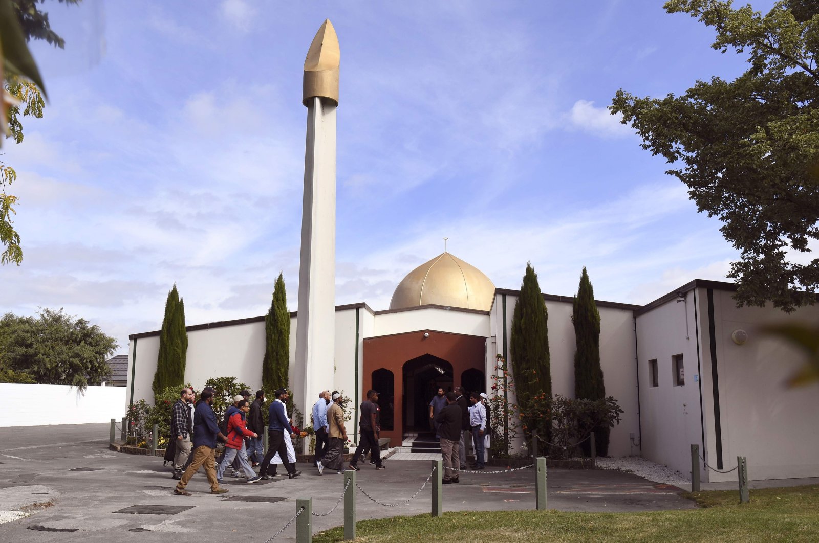
M512 369L512 355L509 342L512 338L512 315L518 297L506 294L506 352L509 370ZM496 340L496 350L504 352L503 345L503 294L495 295L495 305L491 314L491 339ZM547 301L549 313L549 352L552 376L552 393L564 397L574 397L574 353L577 345L572 325L572 303ZM631 309L598 307L600 312L600 367L603 370L606 395L617 399L624 411L620 424L609 435L609 455L624 456L639 454L631 447L629 433L639 435L639 413L636 398L636 368L634 321ZM487 349L487 366L494 368L497 352ZM492 366L489 366L489 363ZM491 375L491 373L487 373ZM510 401L514 398L510 397ZM514 444L520 446L520 442Z

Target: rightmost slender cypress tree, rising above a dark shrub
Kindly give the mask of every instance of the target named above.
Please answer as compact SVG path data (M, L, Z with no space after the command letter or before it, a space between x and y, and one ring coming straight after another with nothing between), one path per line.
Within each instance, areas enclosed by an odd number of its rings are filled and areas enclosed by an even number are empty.
M606 397L603 370L600 368L600 312L595 303L595 291L591 288L586 267L580 276L577 296L572 307L572 324L577 342L574 354L574 395L578 400L600 400ZM595 427L597 455L609 453L609 426ZM581 443L586 455L591 452L590 442Z

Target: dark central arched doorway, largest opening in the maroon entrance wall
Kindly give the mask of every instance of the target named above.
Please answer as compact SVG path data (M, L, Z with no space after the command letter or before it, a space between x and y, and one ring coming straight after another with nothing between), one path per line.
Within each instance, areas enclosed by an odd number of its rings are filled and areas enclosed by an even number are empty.
M406 432L429 431L429 402L443 387L452 389L452 365L431 354L423 354L404 363L403 375L403 412Z

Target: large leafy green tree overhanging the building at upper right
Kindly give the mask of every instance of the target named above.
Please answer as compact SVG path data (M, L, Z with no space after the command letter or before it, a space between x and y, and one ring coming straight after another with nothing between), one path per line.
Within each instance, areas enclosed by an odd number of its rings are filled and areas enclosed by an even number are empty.
M739 305L785 312L814 303L819 258L819 3L781 0L767 15L730 1L672 0L715 29L712 47L748 57L733 81L697 81L682 96L638 98L622 89L612 112L662 155L700 212L718 217L740 249L731 278Z

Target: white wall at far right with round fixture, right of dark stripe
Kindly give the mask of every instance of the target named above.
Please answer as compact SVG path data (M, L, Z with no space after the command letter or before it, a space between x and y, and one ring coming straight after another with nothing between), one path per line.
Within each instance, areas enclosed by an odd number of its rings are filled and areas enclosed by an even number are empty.
M712 398L710 343L708 341L707 289L699 289L699 312L706 323L704 352L708 364L703 373L707 386L703 397ZM765 337L760 325L771 322L819 321L819 307L802 307L786 315L772 307L737 308L733 293L713 290L717 347L723 469L736 465L737 456L748 459L750 479L819 476L819 385L787 388L785 379L803 364L802 352L779 339ZM748 332L749 339L736 345L734 330ZM706 367L708 366L708 371ZM713 420L713 401L706 413ZM716 435L706 425L708 464L716 466ZM709 473L709 481L735 480L735 473Z

